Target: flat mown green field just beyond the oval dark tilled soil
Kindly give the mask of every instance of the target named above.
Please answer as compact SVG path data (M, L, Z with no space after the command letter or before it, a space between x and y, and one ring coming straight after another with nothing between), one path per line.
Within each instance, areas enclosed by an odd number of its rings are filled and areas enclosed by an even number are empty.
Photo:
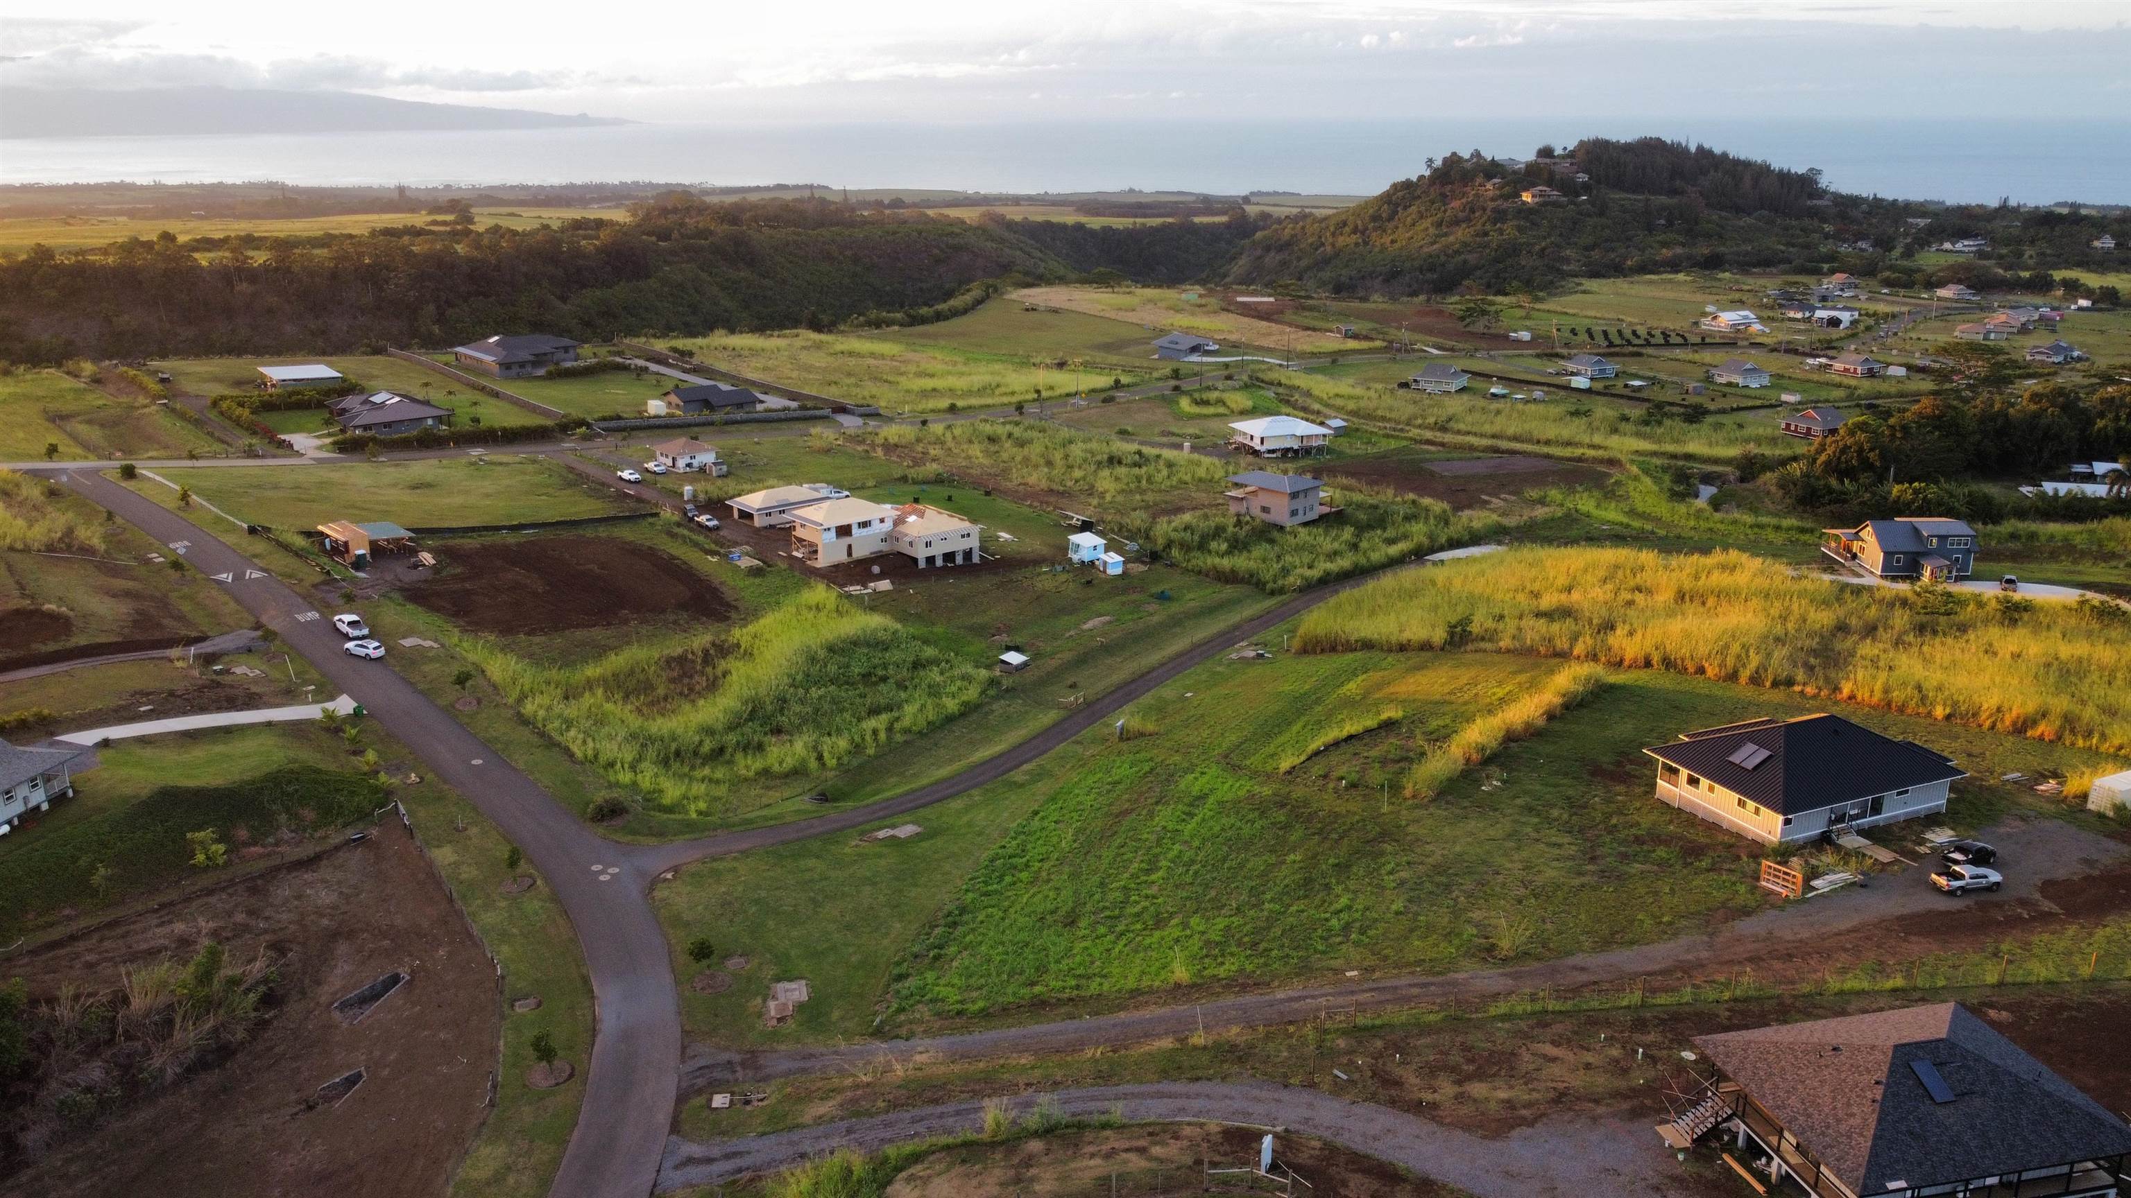
M290 531L326 520L392 520L409 529L509 524L631 507L612 488L569 467L511 454L288 469L200 467L177 482L234 518ZM132 486L168 490L151 480Z

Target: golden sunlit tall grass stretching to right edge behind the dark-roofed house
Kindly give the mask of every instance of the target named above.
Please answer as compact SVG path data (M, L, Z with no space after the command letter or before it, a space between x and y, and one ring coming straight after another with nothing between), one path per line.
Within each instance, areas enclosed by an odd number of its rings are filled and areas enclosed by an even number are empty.
M1302 652L1479 648L1782 686L2131 752L2131 612L1899 593L1737 550L1509 550L1400 573L1304 616Z

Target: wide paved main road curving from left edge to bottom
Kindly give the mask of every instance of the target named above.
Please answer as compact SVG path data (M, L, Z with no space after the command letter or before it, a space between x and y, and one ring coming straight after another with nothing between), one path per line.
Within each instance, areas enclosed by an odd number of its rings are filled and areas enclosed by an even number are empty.
M614 844L548 797L450 712L386 663L341 652L332 625L313 603L258 569L241 552L190 520L158 507L96 469L38 467L158 541L185 546L200 573L230 573L224 584L281 644L332 686L354 695L371 718L420 757L430 774L467 795L541 872L584 946L599 1004L599 1034L584 1083L584 1115L569 1138L552 1194L567 1198L641 1198L650 1192L673 1119L680 1076L680 995L665 934L646 900L646 878L605 874L620 865ZM307 618L309 616L309 618ZM605 880L601 880L605 878ZM514 1083L505 1083L514 1085Z

